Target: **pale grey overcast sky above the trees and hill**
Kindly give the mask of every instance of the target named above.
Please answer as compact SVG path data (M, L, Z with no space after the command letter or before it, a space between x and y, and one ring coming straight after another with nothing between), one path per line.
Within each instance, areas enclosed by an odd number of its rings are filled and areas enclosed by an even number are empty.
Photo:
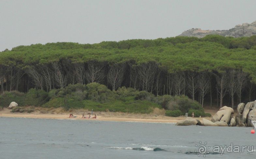
M256 20L256 0L0 0L0 51L227 30Z

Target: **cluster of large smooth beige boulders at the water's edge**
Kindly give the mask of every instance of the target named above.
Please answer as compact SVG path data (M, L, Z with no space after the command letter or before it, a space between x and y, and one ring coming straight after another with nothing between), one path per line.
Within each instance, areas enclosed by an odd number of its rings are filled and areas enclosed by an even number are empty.
M253 126L250 120L256 117L256 100L248 102L246 105L240 103L237 106L237 116L234 116L234 109L224 106L212 117L211 121L204 119L200 120L187 117L176 123L178 126L201 125L201 126ZM255 118L256 119L256 118Z

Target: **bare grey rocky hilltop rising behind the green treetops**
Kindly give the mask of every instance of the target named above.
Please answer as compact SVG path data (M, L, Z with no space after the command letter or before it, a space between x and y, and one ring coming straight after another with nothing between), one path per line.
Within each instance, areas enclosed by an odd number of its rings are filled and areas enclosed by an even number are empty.
M204 37L211 34L217 34L221 36L233 36L233 37L242 37L242 36L253 36L256 35L256 21L252 23L243 23L238 24L234 28L229 30L202 30L200 28L192 28L187 31L184 31L179 36L195 36L195 37Z

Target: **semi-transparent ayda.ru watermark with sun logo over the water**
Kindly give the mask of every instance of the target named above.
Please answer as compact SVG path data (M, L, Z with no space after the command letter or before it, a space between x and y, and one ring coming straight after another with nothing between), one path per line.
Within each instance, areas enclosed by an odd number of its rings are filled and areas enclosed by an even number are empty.
M210 146L206 146L207 142L204 142L204 144L202 144L202 142L199 142L200 145L195 145L195 147L197 147L197 150L195 150L195 153L199 153L198 156L200 156L201 154L203 155L203 157L206 156L206 154L220 154L222 155L224 152L234 152L234 153L243 153L243 152L248 152L248 153L252 153L255 150L253 149L253 145L249 146L238 146L238 145L233 145L233 143L231 143L228 146L213 146L212 148L212 152L209 151L209 149L211 148Z

